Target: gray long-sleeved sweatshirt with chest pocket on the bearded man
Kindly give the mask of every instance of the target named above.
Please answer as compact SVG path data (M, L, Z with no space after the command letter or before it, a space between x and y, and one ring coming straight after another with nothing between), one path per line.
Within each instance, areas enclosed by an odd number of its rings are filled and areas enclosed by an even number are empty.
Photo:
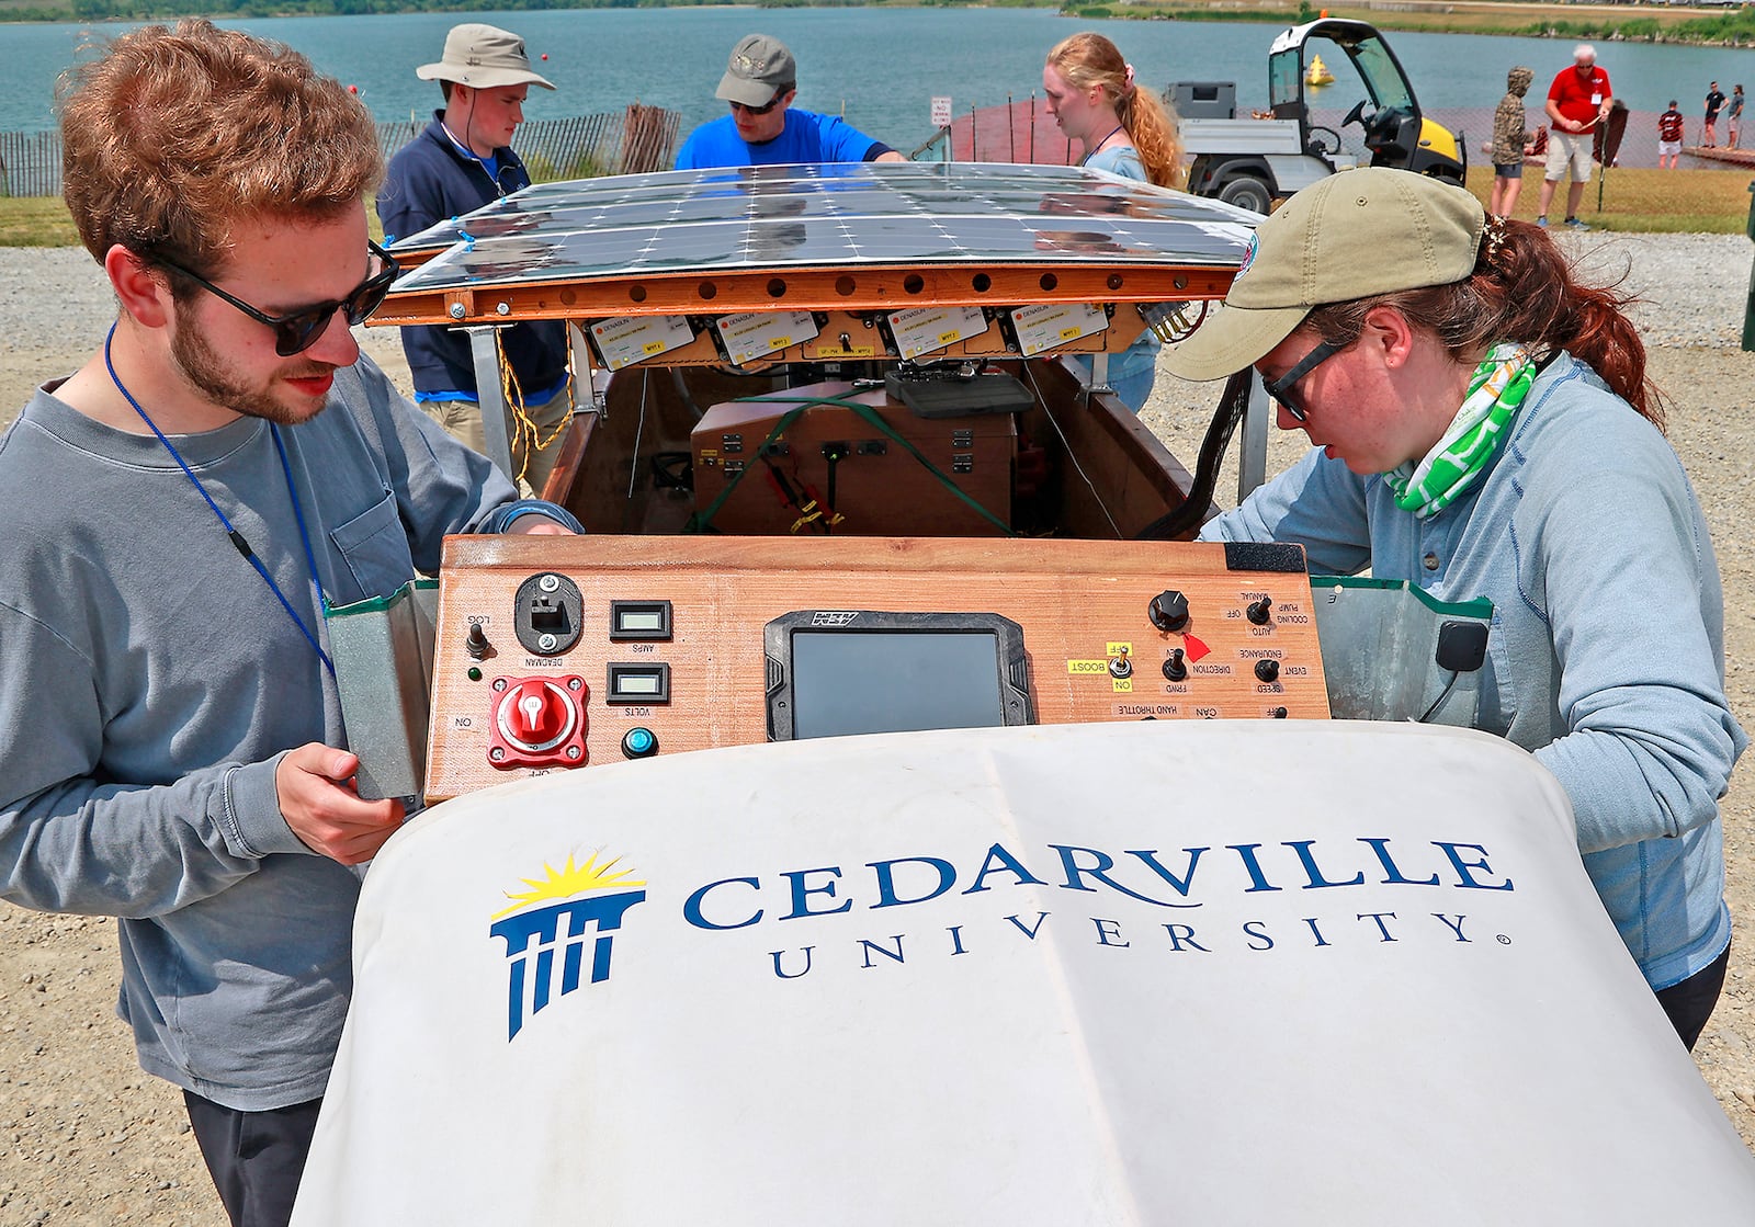
M281 439L333 606L519 506L365 358ZM326 649L269 425L174 444ZM121 916L149 1073L246 1111L321 1095L360 883L288 829L274 771L346 744L333 679L149 434L39 391L0 437L0 897Z

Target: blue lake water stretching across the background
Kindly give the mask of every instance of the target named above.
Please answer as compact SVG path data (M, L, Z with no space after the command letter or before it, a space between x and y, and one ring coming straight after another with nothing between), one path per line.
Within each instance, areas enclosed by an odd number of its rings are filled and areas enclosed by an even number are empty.
M360 90L381 119L425 116L439 105L416 65L439 58L446 30L490 21L525 37L537 70L556 93L532 90L530 119L612 111L639 98L683 114L683 130L723 114L713 88L732 44L760 30L797 54L799 105L844 111L849 121L909 149L932 133L928 100L949 95L958 114L974 105L1027 98L1041 86L1042 58L1076 30L1116 40L1141 81L1236 81L1239 107L1267 102L1271 25L1179 21L1085 21L1042 9L597 9L548 12L409 12L353 18L279 18L223 25L279 39L325 72ZM0 130L54 126L54 79L93 35L123 26L0 25ZM1539 118L1544 83L1571 61L1571 40L1390 33L1422 105L1492 109L1506 68L1536 68L1530 111ZM1615 93L1634 111L1662 111L1681 98L1695 116L1706 83L1723 91L1755 86L1755 53L1725 47L1602 44L1599 60ZM1341 86L1337 86L1341 88ZM1339 105L1350 105L1351 98ZM1485 135L1485 133L1481 133Z

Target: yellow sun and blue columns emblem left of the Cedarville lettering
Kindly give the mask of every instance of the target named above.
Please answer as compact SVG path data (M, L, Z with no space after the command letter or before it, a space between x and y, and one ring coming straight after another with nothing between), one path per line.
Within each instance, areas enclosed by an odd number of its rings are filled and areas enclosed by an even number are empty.
M584 974L586 946L591 948L591 983L609 979L609 948L628 908L646 899L644 890L620 890L612 895L591 893L618 886L644 886L628 881L632 871L616 871L620 858L598 865L597 853L583 865L555 871L542 865L544 878L525 878L530 890L505 892L512 906L491 916L488 932L505 939L505 1039L525 1025L555 997L579 987ZM584 895L574 899L574 895ZM532 908L549 899L563 902ZM595 934L591 929L595 927Z

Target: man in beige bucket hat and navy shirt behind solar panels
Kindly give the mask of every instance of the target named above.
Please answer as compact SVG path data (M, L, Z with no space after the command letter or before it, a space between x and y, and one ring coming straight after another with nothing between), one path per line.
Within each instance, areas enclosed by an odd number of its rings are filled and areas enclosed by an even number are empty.
M377 195L386 244L528 188L530 174L511 149L512 133L525 121L530 86L555 88L530 68L523 39L474 23L453 26L439 63L421 65L414 75L437 81L446 105L390 161ZM541 493L560 455L560 430L572 413L567 325L518 323L502 332L502 346L521 398L521 420L511 432L512 476ZM421 409L451 437L483 451L481 395L467 334L404 328L402 351Z

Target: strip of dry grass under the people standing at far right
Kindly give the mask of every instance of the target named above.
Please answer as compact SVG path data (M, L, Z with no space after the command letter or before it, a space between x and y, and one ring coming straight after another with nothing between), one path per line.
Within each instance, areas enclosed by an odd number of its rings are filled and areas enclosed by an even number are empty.
M1601 174L1601 167L1597 169ZM1469 191L1486 204L1494 188L1492 167L1469 169ZM1609 170L1601 181L1602 211L1597 211L1599 181L1585 184L1578 216L1599 230L1629 233L1743 233L1750 216L1750 172L1736 170ZM1523 167L1523 191L1511 216L1536 219L1541 204L1541 167ZM1565 184L1555 191L1550 221L1565 216Z

